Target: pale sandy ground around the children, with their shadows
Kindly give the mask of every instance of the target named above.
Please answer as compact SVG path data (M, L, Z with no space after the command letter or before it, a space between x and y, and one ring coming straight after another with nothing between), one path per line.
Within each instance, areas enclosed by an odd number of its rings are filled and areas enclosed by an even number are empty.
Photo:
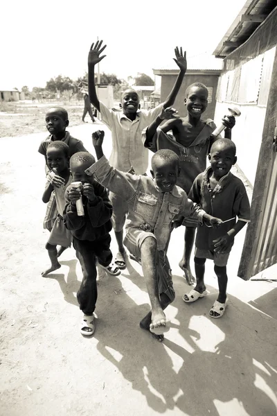
M92 151L91 132L99 127L69 131ZM224 318L208 318L217 296L211 262L210 294L195 304L181 300L189 287L178 267L179 228L169 249L176 300L166 310L172 329L164 343L139 329L149 304L141 267L133 261L119 277L100 277L96 333L80 335L76 292L82 274L74 250L62 254L60 270L40 275L48 264L44 160L37 153L45 136L0 139L0 415L276 415L277 285L236 277L244 232L229 260ZM263 277L274 273L268 269Z

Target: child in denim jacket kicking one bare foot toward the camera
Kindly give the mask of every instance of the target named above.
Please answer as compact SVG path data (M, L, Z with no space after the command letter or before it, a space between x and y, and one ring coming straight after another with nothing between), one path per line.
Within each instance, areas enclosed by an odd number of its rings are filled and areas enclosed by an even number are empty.
M152 177L133 175L113 168L102 151L104 132L92 135L98 162L86 173L96 177L107 189L120 195L127 202L128 215L124 244L134 257L141 259L152 310L140 322L140 326L163 340L163 333L170 329L163 312L173 302L175 291L166 243L172 220L183 215L206 218L208 223L219 225L214 218L193 204L183 189L176 186L179 175L179 159L172 150L160 150L152 157Z

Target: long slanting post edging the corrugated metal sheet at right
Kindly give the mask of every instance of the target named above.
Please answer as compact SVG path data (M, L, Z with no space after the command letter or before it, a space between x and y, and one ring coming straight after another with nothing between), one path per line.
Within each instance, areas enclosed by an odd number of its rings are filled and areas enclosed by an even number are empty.
M244 280L251 277L251 270L256 259L256 252L253 251L253 245L257 235L259 216L261 213L262 202L267 194L265 189L265 181L267 179L267 171L271 166L271 159L276 156L273 153L274 128L277 117L277 47L274 56L274 64L271 73L271 83L269 88L269 96L267 100L267 112L265 114L265 124L262 131L262 144L260 146L260 154L256 171L256 178L253 187L253 197L251 202L251 222L247 226L247 233L244 240L242 257L238 269L238 276ZM251 137L249 137L249 157L251 157ZM274 242L272 242L274 243Z

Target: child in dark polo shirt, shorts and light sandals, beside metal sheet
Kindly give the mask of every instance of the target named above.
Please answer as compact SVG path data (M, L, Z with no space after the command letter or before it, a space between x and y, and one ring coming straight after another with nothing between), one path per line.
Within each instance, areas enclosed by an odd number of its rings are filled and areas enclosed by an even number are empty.
M228 300L226 264L235 235L249 222L250 207L244 184L230 172L237 161L233 141L215 141L208 159L211 166L197 176L188 196L209 214L222 218L223 223L217 229L206 225L198 226L195 241L197 284L184 295L183 300L187 303L195 302L207 294L204 284L205 262L206 259L211 259L215 263L219 295L211 307L210 316L221 318Z

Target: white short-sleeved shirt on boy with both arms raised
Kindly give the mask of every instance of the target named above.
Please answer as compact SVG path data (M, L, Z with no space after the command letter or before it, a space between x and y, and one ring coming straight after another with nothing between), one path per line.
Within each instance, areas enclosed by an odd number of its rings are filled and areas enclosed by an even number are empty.
M100 102L102 122L111 130L111 166L123 172L133 167L137 175L147 171L148 149L143 146L141 133L161 114L162 107L163 104L160 104L152 110L139 110L136 119L132 121L123 112L109 110Z

